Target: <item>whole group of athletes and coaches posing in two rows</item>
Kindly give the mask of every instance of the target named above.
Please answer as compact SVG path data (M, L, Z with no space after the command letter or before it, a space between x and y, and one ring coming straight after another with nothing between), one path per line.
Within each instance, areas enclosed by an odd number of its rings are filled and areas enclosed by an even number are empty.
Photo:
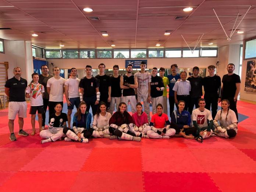
M233 72L234 64L228 64L228 74L223 76L222 87L220 77L214 74L214 65L208 67L209 76L205 78L200 77L199 68L194 67L193 75L188 79L185 71L177 74L177 64L171 65L171 74L167 77L164 77L163 67L160 68L160 76L156 67L151 73L147 72L143 61L141 70L134 75L132 64L127 66L124 75L119 75L118 65L113 66L113 75L106 75L105 67L103 63L99 64L100 73L93 77L92 67L86 65L86 76L81 80L77 78L77 69L71 68L71 76L65 80L60 77L60 68L54 67L53 75L50 75L47 65L42 65L42 74L33 73L29 85L26 79L21 78L21 68L15 67L14 77L8 79L5 85L9 97L10 140L16 140L14 120L17 114L18 135L28 135L23 130L27 109L25 97L30 98L31 135L36 133L35 117L38 112L39 131L43 138L41 143L63 138L65 141L87 143L89 138L141 141L141 138L169 139L170 136L203 142L210 136L232 138L237 134L236 102L241 81ZM167 86L171 121L167 110ZM201 98L202 87L204 99ZM68 106L67 114L62 113L63 93ZM218 102L221 102L219 111ZM128 105L132 115L127 112ZM174 105L177 110L174 110ZM77 112L71 124L74 106ZM45 126L47 107L48 129ZM90 107L92 114L89 113Z

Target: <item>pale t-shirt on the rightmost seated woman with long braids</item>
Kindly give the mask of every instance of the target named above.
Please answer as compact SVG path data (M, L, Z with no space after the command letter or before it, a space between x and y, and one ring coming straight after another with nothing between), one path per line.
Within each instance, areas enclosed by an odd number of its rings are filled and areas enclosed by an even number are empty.
M221 113L221 120L220 120L220 113L221 110L219 110L215 116L215 120L216 121L220 121L220 126L222 127L228 127L229 125L231 125L232 123L237 122L237 116L235 115L235 112L233 110L228 110L228 116L227 116L227 112L222 111ZM226 117L227 117L227 121L226 121ZM237 128L235 128L237 129Z

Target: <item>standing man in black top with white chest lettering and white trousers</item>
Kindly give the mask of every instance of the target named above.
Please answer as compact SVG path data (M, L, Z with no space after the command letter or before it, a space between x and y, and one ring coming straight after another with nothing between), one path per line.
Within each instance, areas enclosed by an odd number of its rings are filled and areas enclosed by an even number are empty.
M161 104L163 106L164 97L163 97L163 90L164 90L164 82L163 79L157 76L157 68L154 67L152 69L152 77L151 77L151 102L152 102L152 113L156 114L156 106Z

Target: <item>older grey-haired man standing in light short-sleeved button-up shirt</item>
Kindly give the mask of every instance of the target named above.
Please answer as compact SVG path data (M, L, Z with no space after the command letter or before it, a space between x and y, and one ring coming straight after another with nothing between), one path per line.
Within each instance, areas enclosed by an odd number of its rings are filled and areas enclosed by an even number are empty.
M182 71L181 74L181 81L177 81L174 84L174 100L175 103L178 104L180 100L185 101L184 110L188 110L189 106L189 92L191 91L191 85L188 80L186 80L187 73L186 71Z

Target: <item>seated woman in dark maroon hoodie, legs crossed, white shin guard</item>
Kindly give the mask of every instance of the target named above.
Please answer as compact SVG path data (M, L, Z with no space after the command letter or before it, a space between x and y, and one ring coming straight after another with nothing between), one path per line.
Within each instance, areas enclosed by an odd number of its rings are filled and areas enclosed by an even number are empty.
M129 131L133 126L131 115L126 111L127 105L121 102L118 106L118 111L115 112L109 120L109 132L112 134L110 139L121 139L131 141L141 141L140 137L136 137L135 133Z

